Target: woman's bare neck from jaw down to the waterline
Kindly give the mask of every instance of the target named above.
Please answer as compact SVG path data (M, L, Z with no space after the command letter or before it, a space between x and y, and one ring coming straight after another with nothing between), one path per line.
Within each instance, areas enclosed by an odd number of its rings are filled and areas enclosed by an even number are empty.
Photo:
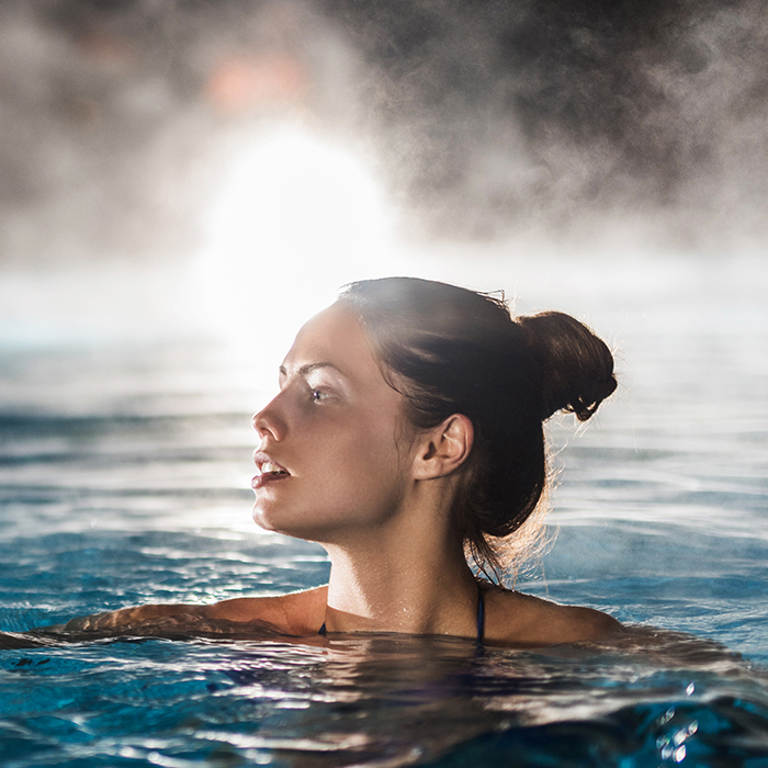
M474 637L477 585L461 543L406 520L365 541L326 545L328 630Z

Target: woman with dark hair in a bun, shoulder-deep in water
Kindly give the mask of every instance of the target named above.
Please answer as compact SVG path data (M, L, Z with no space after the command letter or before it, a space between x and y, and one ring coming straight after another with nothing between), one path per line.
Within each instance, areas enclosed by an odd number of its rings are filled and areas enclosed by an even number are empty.
M253 518L319 542L328 585L50 630L608 639L621 625L605 613L493 581L545 490L542 422L562 409L586 420L614 388L608 348L567 315L512 319L500 300L411 278L353 283L301 329L253 417Z

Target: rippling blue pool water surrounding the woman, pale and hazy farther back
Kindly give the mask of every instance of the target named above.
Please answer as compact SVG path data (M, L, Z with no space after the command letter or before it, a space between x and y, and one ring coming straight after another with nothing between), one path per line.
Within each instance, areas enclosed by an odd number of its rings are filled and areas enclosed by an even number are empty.
M586 301L615 332L624 384L583 432L554 425L557 538L518 586L729 651L400 636L5 650L0 765L768 765L768 310L763 284L708 269L667 270L669 301L636 285L632 301L573 285L553 298ZM0 630L324 581L321 550L250 522L264 383L247 362L191 341L5 348Z

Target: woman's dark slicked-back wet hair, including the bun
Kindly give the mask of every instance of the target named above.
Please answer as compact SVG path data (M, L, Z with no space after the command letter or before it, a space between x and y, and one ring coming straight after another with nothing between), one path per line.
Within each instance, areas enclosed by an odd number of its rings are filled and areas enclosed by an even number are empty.
M569 315L512 317L502 298L417 278L351 283L338 302L359 317L416 429L471 419L451 513L467 558L499 580L506 544L546 488L543 422L597 410L617 386L610 350Z

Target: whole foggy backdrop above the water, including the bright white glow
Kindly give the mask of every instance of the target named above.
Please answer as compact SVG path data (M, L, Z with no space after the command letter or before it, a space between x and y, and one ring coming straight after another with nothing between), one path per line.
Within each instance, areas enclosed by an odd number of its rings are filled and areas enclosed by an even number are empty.
M246 286L389 272L754 268L767 43L749 0L5 0L5 336L242 329Z

